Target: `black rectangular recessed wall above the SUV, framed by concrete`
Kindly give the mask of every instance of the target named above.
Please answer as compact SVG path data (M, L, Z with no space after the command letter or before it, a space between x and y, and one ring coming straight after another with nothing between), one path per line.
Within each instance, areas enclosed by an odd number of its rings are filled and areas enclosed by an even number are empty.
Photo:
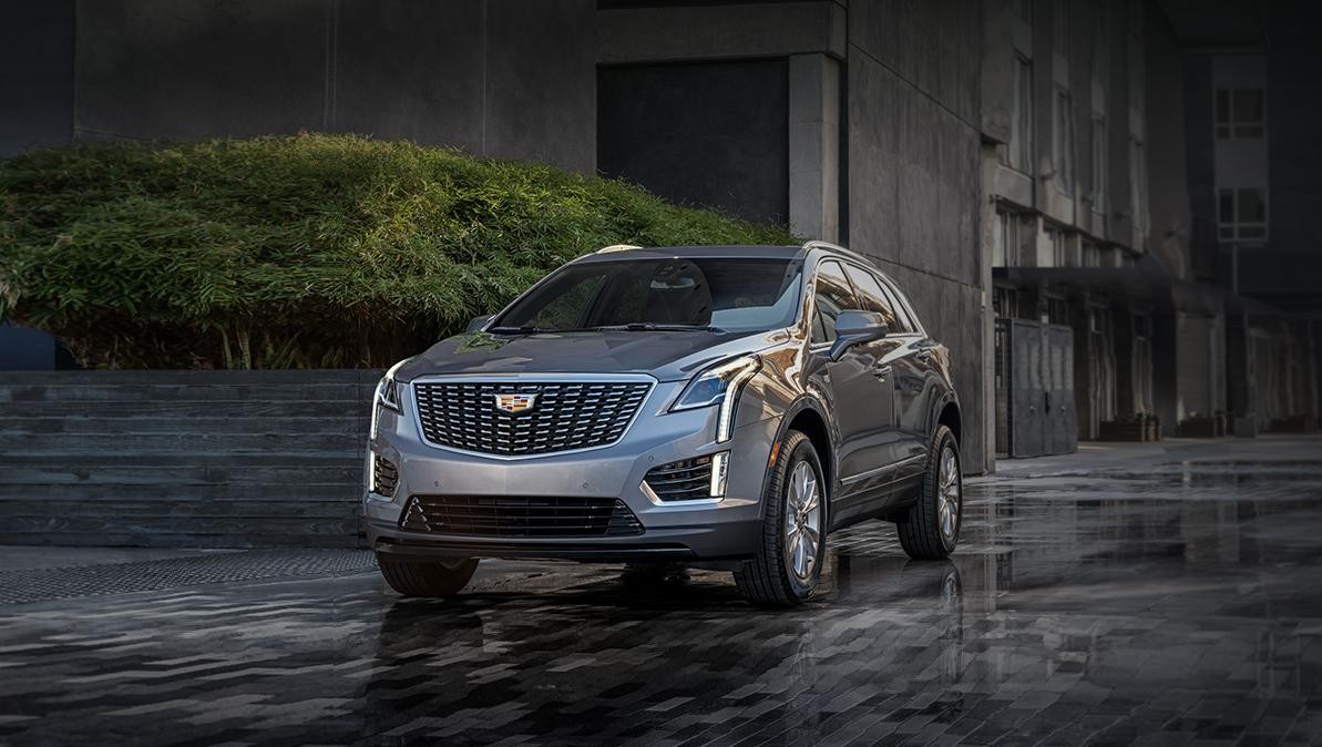
M785 59L598 71L598 168L676 202L785 223Z

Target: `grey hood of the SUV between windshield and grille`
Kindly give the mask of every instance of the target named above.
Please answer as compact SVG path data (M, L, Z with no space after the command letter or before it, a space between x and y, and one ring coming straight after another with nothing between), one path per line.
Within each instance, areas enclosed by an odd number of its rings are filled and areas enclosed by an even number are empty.
M645 373L657 381L682 381L732 356L761 350L788 340L785 331L735 336L714 332L563 332L489 334L471 332L448 337L410 358L395 372L398 381L422 375Z

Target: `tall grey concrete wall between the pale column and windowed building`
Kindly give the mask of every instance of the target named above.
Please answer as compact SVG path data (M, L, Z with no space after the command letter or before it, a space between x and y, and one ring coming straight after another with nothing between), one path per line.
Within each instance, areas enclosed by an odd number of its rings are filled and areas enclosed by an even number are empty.
M962 8L962 5L961 5ZM849 245L878 259L951 348L965 468L981 472L981 15L948 3L849 7Z

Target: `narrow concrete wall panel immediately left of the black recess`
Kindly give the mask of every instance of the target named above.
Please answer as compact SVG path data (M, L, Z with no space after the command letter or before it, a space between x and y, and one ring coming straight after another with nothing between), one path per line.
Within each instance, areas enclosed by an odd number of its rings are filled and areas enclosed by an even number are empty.
M592 0L490 0L484 152L596 168Z

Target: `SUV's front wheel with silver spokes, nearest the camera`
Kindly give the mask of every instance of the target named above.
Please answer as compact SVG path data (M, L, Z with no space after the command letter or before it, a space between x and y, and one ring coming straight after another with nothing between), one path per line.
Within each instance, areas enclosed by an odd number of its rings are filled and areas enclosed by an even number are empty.
M804 603L816 591L826 561L826 481L817 450L806 435L789 431L780 442L780 453L763 494L765 509L754 559L735 571L735 586L761 607ZM795 505L800 510L787 514L787 506Z

